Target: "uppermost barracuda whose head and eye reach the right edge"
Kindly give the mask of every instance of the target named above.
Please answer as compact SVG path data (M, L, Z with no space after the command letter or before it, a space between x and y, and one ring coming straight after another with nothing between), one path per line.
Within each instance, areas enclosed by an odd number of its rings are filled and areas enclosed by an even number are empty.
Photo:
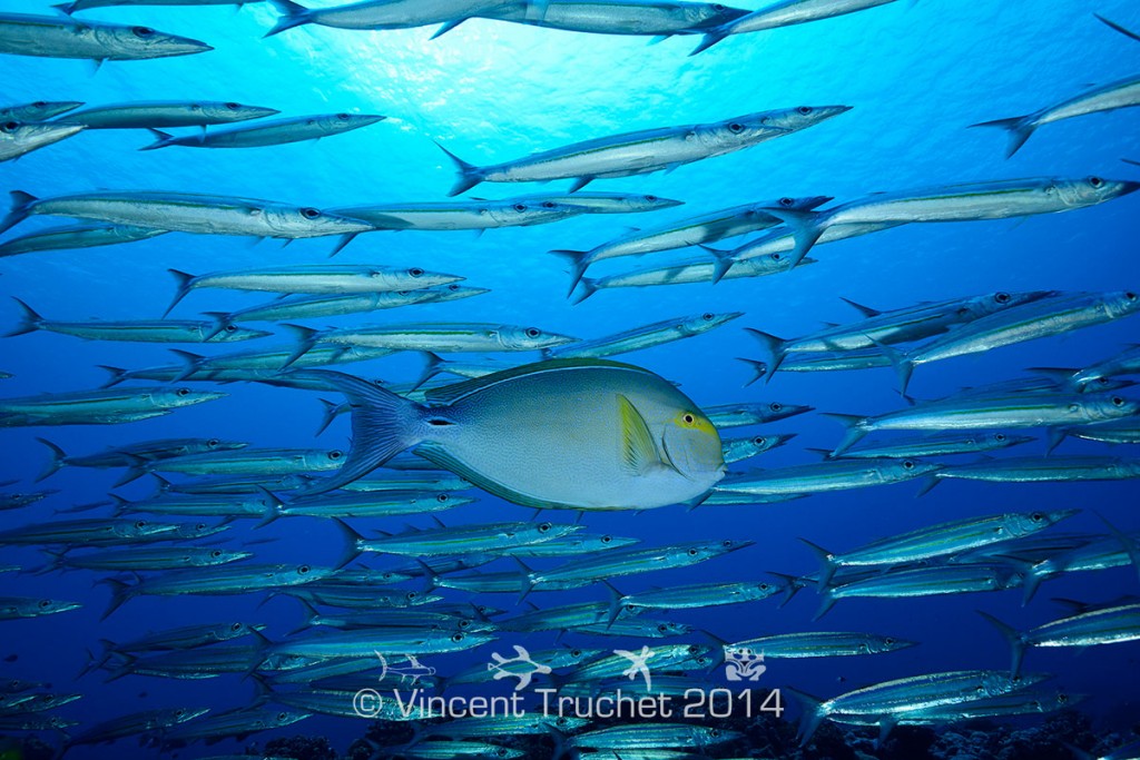
M880 193L824 211L792 211L773 206L791 229L798 261L829 227L839 224L964 222L1012 219L1086 209L1140 189L1131 180L1044 177L948 185L940 188Z

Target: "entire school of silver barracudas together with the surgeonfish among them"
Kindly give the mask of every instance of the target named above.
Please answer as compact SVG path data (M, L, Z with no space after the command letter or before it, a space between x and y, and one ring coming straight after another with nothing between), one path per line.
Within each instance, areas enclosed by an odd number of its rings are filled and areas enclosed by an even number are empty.
M44 7L34 9L39 15L2 14L0 54L80 58L97 66L207 54L212 48L206 42L149 27L100 23L85 11L105 6L241 6L258 1L73 0L56 7L63 13ZM653 0L368 0L319 10L291 0L268 0L279 16L267 36L309 24L339 30L438 25L434 36L439 36L469 18L490 18L579 33L690 35L700 41L695 54L730 36L888 2L891 0L782 0L750 13L720 5ZM1135 38L1110 19L1100 21ZM144 150L242 149L383 129L373 125L385 119L347 113L290 115L238 103L0 105L0 161L59 149L50 146L82 139L85 130L138 130ZM1138 105L1140 77L1132 77L1085 90L1062 103L1042 104L1029 115L978 126L1005 130L1010 139L1007 153L1012 156L1047 124ZM26 235L17 229L0 240L0 256L122 245L168 232L286 240L329 236L337 238L332 251L336 253L357 236L383 230L483 230L547 224L578 214L657 213L683 202L579 190L595 180L684 171L678 167L777 139L809 141L817 125L841 121L850 108L795 105L726 115L715 123L598 134L586 142L551 146L494 165L471 164L448 152L457 170L455 186L449 191L440 188L435 199L399 204L367 205L367 198L361 198L360 205L315 209L184 190L111 189L36 197L23 188L8 188L11 206L0 231L18 227L33 214L74 221ZM171 129L186 132L176 136L165 131ZM150 142L146 142L147 137ZM440 147L447 152L446 146ZM495 201L443 197L459 196L481 183L560 179L572 180L564 193ZM1098 175L1042 177L891 188L864 198L768 198L651 222L598 240L589 251L551 253L569 262L570 296L581 301L611 288L716 283L785 273L806 264L825 267L828 251L815 250L821 244L901 224L1078 211L1138 188L1137 181ZM752 237L741 242L743 236ZM728 239L733 239L730 247L718 245ZM694 255L681 265L587 276L598 261L686 247L693 247ZM808 258L809 252L820 259ZM589 532L581 522L589 510L771 504L909 480L925 492L959 479L1138 479L1140 458L1002 453L1034 440L1026 434L1031 430L1043 431L1050 452L1066 438L1140 443L1140 401L1127 394L1133 382L1126 379L1140 374L1140 351L1134 348L1105 357L1096 366L1034 368L1011 381L912 401L882 414L864 416L853 402L854 408L845 410L848 414L829 415L846 433L839 435L837 427L836 446L821 451L817 464L763 468L751 465L750 459L787 444L791 434L765 427L764 432L739 435L732 431L736 436L731 439L723 435L731 428L751 428L811 412L812 407L767 401L701 408L667 378L612 359L724 329L735 320L741 321L733 328L743 326L748 320L739 312L682 316L583 340L539 326L417 322L414 317L402 317L416 304L466 300L489 292L466 284L464 272L326 263L171 273L168 314L176 308L185 312L187 302L194 303L193 309L207 309L209 293L198 293L207 288L280 297L234 312L204 311L197 319L133 321L68 321L66 314L42 316L34 304L17 300L23 318L7 340L32 341L34 336L14 336L48 330L93 341L192 348L253 341L251 346L256 348L235 346L211 356L179 348L174 350L177 361L169 366L108 367L111 378L103 389L3 398L0 426L122 425L184 414L184 407L225 397L225 384L244 382L319 394L326 406L325 425L340 414L351 416L351 444L343 449L253 449L242 441L215 438L132 441L129 428L123 428L113 439L114 446L104 450L68 452L41 438L47 465L34 479L36 483L64 467L95 467L120 468L119 484L150 476L158 485L148 498L128 500L111 493L108 501L60 510L76 514L0 532L3 546L38 547L44 561L38 567L6 565L0 570L90 572L111 591L105 618L140 596L245 595L251 600L246 620L157 630L131 641L104 641L103 652L92 654L88 671L103 671L108 679L245 675L256 680L261 696L247 708L220 714L204 706L176 705L99 725L76 725L55 711L81 694L55 694L42 685L11 679L0 684L0 733L48 732L57 737L62 751L128 737L170 747L245 737L316 713L353 718L352 694L375 683L377 653L388 657L393 673L400 673L385 677L392 687L401 688L406 673L415 672L418 687L442 693L459 684L481 683L487 673L478 668L417 672L417 657L466 651L496 639L511 644L535 631L591 637L588 647L534 654L536 661L554 669L552 678L564 692L587 695L637 688L624 678L628 661L610 653L609 640L616 639L594 637L682 639L654 647L654 683L659 689L668 689L671 677L700 678L731 652L757 652L769 659L870 656L919 644L890 631L825 629L724 641L717 639L716 631L702 634L660 616L674 610L768 598L774 600L765 604L774 605L806 587L820 596L816 619L842 599L868 597L904 599L1019 589L1028 602L1042 582L1061 574L1129 564L1140 570L1140 534L1110 524L1100 532L1060 533L1053 526L1080 510L1053 509L931 520L923 529L885 536L865 546L823 548L805 538L819 558L820 570L814 574L728 578L624 594L618 587L626 577L714 561L748 550L752 541L697 537L685 544L645 547L636 537ZM478 303L472 302L471 309ZM740 351L755 370L754 382L766 384L776 373L893 368L898 389L905 393L920 366L1068 334L1125 319L1140 310L1137 292L1123 289L999 291L937 303L889 304L883 310L849 303L850 322L808 335L777 337L763 325L744 327ZM461 308L470 311L467 304ZM377 320L366 328L318 330L293 324L389 309L399 309L401 318ZM274 329L287 333L290 340L264 345ZM426 367L423 376L392 384L342 371L351 362L396 352L418 352ZM334 366L339 369L329 369ZM343 398L343 402L326 397ZM963 460L961 455L982 458ZM591 476L581 477L583 471ZM3 484L0 508L19 509L54 493L38 485L16 488L16 483ZM465 524L462 517L451 516L462 515L461 508L480 499L482 492L540 514L530 521L490 524ZM388 530L402 516L429 513L437 518L434 528ZM447 514L439 518L442 513ZM254 521L260 528L274 521L292 523L296 517L339 524L345 548L336 566L267 564L258 559L258 541L225 540L233 521ZM653 514L644 518L652 520ZM377 555L386 555L390 562L358 562ZM497 563L498 570L487 570L491 563ZM18 588L15 577L6 575L7 588ZM586 587L596 589L595 602L565 606L536 602L543 591ZM498 604L507 610L490 606L484 596L489 594L506 595ZM255 600L271 595L293 597L304 608L304 622L295 631L270 635L263 626L251 622L256 619ZM504 599L510 602L504 604ZM518 606L523 600L529 606ZM68 600L5 596L0 598L0 618L10 621L63 614L79 606ZM880 737L886 737L898 725L945 725L1057 710L1080 695L1058 695L1056 689L1040 686L1048 676L1024 671L1023 661L1028 659L1032 665L1034 647L1086 647L1140 639L1140 603L1135 599L1076 606L1068 615L1052 618L1031 630L1016 630L992 619L1012 653L1008 672L914 673L830 698L796 693L804 712L800 737L809 741L824 720L877 726ZM91 635L92 647L97 638ZM999 645L996 637L992 644ZM671 687L684 690L679 681ZM398 711L384 718L414 720L416 737L408 744L376 747L381 757L522 757L504 744L504 738L553 734L561 750L589 758L677 758L706 755L735 737L733 732L682 722L597 728L583 718L440 720L429 713Z

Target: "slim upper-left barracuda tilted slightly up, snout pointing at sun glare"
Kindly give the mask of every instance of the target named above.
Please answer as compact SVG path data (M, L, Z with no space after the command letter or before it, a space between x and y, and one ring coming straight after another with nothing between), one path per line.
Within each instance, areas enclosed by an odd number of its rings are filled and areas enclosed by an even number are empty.
M320 116L295 116L275 119L256 124L242 124L229 129L210 130L201 134L174 137L156 129L150 133L157 138L140 150L156 150L178 146L182 148L261 148L271 145L287 145L303 140L319 140L335 134L382 122L388 116L366 114L327 114ZM351 215L351 214L349 214Z

